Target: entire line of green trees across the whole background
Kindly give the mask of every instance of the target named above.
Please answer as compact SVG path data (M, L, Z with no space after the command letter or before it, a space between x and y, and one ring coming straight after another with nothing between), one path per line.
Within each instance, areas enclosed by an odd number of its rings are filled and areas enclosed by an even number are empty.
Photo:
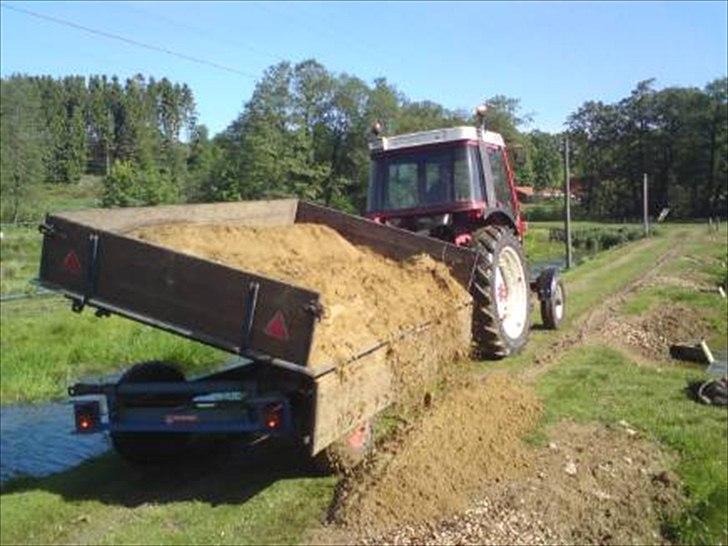
M563 181L564 134L527 130L520 101L488 100L486 124L514 150L520 184ZM568 120L574 176L592 216L636 215L641 177L652 210L683 216L725 207L726 80L656 91L642 82L615 104L587 102ZM351 212L366 199L369 130L385 134L473 124L472 114L413 101L384 78L371 84L315 60L268 68L243 111L210 136L192 91L141 75L15 75L2 80L3 221L38 182L103 175L103 205L298 196Z

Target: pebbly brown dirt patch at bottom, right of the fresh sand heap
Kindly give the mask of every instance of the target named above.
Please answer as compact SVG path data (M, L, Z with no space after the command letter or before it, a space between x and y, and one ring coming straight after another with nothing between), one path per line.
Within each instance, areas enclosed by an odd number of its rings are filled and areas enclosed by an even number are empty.
M661 544L681 504L670 458L634 429L564 422L531 473L491 484L468 510L400 527L386 544Z

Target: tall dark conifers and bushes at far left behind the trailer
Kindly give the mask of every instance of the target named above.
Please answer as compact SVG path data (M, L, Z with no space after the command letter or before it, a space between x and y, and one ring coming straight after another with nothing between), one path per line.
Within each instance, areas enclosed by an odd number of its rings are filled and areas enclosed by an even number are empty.
M186 84L141 75L124 82L13 75L0 86L4 221L18 219L33 185L71 184L83 174L106 177L108 205L182 197L188 155L182 136L196 126ZM114 183L120 173L133 173L126 186Z

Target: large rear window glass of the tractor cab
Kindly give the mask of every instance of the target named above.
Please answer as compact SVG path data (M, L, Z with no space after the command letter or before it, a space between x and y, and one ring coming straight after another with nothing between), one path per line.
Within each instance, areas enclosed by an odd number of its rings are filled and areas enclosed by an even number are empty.
M482 200L477 147L465 143L372 158L367 210L437 208Z

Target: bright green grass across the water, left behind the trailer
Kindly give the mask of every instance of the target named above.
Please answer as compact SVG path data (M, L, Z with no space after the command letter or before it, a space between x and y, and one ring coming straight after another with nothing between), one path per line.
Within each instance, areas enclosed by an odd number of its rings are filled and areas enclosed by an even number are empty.
M48 185L36 200L40 222L46 212L98 206L99 182ZM35 224L3 226L0 293L32 293L42 237ZM218 363L225 355L177 336L118 317L98 319L93 311L70 312L58 296L3 302L0 307L0 403L63 398L74 380L114 373L142 360L171 360L190 371Z

